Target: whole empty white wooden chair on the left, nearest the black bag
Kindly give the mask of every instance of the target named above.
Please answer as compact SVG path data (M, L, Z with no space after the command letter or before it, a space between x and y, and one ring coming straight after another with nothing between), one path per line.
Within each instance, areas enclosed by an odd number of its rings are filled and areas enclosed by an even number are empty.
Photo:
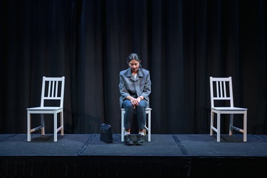
M27 108L27 141L31 141L31 132L41 130L41 135L45 135L44 114L53 114L53 135L54 142L57 142L57 133L61 130L63 133L63 100L64 100L65 77L47 78L43 76L43 85L41 91L41 106L36 108ZM47 106L48 100L58 100L59 106ZM57 115L60 113L61 126L58 127ZM41 114L41 126L31 129L31 114Z

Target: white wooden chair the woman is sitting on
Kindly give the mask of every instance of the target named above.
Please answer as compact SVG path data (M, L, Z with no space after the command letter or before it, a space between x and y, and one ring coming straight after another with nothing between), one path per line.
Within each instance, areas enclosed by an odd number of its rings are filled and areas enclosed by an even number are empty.
M148 115L147 122L145 124L145 132L148 132L147 135L147 140L148 142L151 141L151 108L146 108L145 113ZM125 116L125 109L121 109L121 120L122 120L122 127L121 127L121 141L124 142L124 132L125 132L125 127L124 127L124 116Z

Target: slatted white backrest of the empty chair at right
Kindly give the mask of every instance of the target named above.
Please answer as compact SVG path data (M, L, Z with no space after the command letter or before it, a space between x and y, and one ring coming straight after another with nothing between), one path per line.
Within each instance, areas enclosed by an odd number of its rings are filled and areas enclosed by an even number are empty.
M210 82L210 93L211 93L211 108L215 106L214 102L216 100L224 100L224 101L227 100L229 102L228 106L234 107L232 78L210 77L209 82Z

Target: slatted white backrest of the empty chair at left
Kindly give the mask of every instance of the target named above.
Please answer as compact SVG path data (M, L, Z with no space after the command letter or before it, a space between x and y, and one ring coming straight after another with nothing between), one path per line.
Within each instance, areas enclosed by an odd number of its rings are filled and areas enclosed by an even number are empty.
M46 106L46 100L59 100L59 106L63 108L65 77L48 78L43 76L41 93L41 107Z

